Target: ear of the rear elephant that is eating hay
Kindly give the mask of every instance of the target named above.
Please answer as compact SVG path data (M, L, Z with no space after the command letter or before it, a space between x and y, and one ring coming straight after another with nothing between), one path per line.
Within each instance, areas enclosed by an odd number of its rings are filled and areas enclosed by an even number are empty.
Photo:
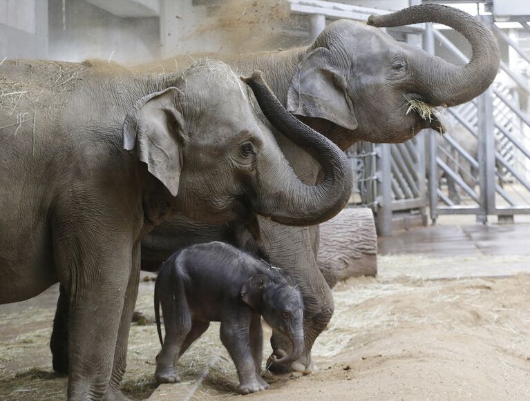
M354 130L358 124L347 92L348 82L341 69L333 65L333 59L327 48L316 48L305 56L287 91L287 110Z

